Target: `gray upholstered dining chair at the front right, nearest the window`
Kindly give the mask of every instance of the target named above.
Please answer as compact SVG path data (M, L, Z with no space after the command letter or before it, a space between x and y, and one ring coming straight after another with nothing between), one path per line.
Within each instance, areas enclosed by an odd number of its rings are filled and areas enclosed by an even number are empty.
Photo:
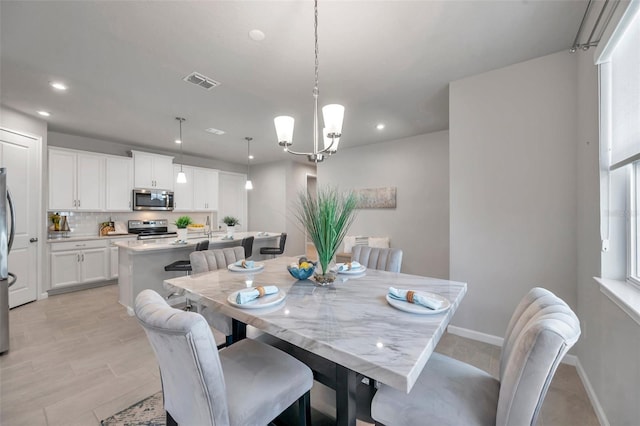
M371 403L376 424L535 425L580 323L560 298L534 288L517 306L504 339L499 380L434 353L409 394L382 385Z

